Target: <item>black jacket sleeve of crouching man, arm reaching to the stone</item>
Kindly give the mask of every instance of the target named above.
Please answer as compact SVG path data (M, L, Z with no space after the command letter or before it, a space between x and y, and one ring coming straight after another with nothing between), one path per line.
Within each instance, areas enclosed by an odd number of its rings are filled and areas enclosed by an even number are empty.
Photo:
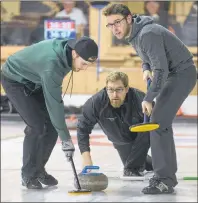
M89 135L97 123L98 113L95 110L93 97L89 98L83 106L82 116L77 124L77 139L81 154L90 151Z

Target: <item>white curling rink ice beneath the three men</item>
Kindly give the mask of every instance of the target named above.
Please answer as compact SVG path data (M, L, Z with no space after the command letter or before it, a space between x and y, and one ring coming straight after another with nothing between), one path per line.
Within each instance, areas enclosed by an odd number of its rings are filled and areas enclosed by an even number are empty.
M197 176L197 124L174 123L175 144L178 159L178 177ZM56 187L42 190L27 190L21 186L21 160L23 144L23 122L1 121L1 202L197 202L197 181L179 180L174 194L144 195L145 181L122 181L122 164L117 151L100 130L91 135L91 154L94 165L109 177L108 188L91 194L69 195L74 189L73 173L57 142L46 171L56 177ZM82 169L81 156L76 145L76 131L71 130L75 143L74 162L77 172Z

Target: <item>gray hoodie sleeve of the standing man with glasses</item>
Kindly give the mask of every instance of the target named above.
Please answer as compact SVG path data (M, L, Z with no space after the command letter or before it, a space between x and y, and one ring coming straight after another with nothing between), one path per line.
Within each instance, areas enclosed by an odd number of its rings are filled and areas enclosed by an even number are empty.
M152 102L159 94L168 77L168 62L163 43L163 37L160 34L149 32L142 37L142 50L151 61L153 71L153 80L149 90L144 98L147 102Z

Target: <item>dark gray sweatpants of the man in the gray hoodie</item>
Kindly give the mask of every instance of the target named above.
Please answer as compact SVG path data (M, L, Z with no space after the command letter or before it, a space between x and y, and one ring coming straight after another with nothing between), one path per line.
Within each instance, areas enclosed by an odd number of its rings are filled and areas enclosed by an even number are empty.
M151 154L155 175L169 186L177 185L177 159L172 123L177 111L196 84L196 68L169 74L165 85L156 98L151 122L160 128L150 134Z

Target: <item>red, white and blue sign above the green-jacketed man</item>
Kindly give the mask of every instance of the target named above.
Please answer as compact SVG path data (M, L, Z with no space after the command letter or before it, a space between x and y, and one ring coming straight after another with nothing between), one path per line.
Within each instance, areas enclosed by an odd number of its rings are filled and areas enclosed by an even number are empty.
M44 20L44 39L75 39L75 21L68 18L48 18Z

